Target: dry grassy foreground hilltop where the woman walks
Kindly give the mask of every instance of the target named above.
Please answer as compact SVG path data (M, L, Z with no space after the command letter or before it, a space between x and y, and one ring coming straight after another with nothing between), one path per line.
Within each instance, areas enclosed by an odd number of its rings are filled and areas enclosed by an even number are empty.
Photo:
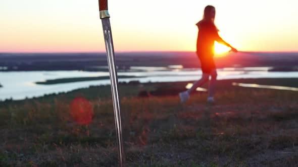
M121 84L127 166L297 166L298 93L232 82L298 87L298 78L220 80L209 106L204 92L185 105L170 95L187 82ZM70 117L77 96L93 106L89 126ZM110 86L0 102L0 133L0 166L117 166Z

